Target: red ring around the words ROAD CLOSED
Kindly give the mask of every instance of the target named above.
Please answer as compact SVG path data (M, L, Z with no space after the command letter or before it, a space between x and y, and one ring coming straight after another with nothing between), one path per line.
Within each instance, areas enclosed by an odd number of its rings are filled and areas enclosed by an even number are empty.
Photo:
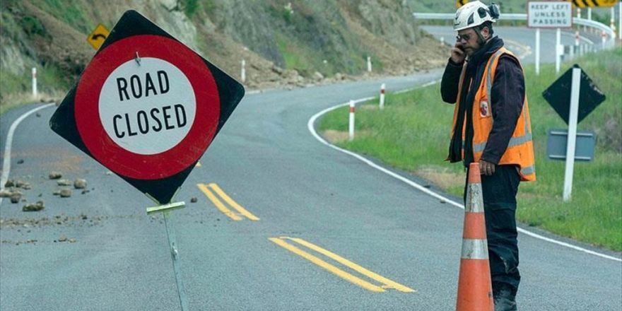
M196 98L194 123L177 145L151 155L127 151L108 136L100 121L100 93L112 71L140 57L168 61L188 78ZM93 158L119 175L137 180L159 180L189 168L199 160L216 134L220 98L216 81L203 59L176 40L158 35L135 35L100 51L84 70L74 100L80 134ZM105 103L104 103L105 104Z

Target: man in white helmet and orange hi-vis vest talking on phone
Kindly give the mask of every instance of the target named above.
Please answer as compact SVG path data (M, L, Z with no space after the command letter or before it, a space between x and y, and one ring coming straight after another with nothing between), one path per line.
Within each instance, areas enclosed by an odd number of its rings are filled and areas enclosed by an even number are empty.
M516 194L520 181L536 180L524 74L493 35L498 17L497 6L480 1L458 9L440 89L442 100L456 103L447 160L480 166L495 311L517 310Z

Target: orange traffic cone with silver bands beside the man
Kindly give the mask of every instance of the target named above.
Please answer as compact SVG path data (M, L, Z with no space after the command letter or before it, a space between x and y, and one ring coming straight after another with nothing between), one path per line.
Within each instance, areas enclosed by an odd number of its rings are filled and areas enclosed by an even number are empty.
M491 266L488 263L486 242L486 219L483 213L479 174L479 163L471 163L467 182L467 202L464 206L456 311L494 310Z

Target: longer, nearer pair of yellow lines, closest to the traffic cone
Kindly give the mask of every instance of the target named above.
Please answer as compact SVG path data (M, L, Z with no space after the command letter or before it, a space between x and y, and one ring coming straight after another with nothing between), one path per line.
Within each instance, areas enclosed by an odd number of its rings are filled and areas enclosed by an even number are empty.
M300 239L297 237L271 237L268 240L270 240L271 242L274 242L276 245L281 246L290 252L293 252L294 254L297 254L300 257L303 257L309 260L310 262L314 264L317 264L317 266L320 266L328 270L332 274L335 274L336 276L344 278L346 281L349 281L362 288L365 288L368 291L382 293L382 292L385 292L385 289L395 289L403 293L416 292L412 288L408 288L404 285L401 285L400 283L389 280L388 278L385 278L384 276L375 274L374 272L369 271L368 269L365 269L362 266L359 266L358 264L355 264L349 261L348 259L345 259L344 257L339 256L338 254L334 254L333 252L324 250L322 247L314 245L303 239ZM348 268L353 269L354 271L357 271L358 273L363 274L364 276L367 276L368 278L372 278L373 280L382 283L382 286L374 285L368 281L363 280L362 278L359 278L358 276L354 276L353 274L350 274L344 270L341 270L338 267L334 266L333 264L329 264L328 262L324 261L323 259L320 259L318 257L315 257L312 254L309 254L308 252L300 250L300 248L289 244L288 242L286 242L286 240L296 242L298 243L298 245L302 245L304 247L309 248L310 250L318 252L319 254L323 254L324 256L329 257L330 259L333 259L334 261L339 262L340 264L343 264L344 266L347 266Z

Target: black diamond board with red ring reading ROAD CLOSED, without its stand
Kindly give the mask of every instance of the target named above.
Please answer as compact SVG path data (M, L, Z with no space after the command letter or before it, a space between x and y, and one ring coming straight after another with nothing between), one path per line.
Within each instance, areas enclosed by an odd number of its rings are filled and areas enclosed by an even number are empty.
M243 95L235 79L138 12L127 11L50 127L167 204Z

